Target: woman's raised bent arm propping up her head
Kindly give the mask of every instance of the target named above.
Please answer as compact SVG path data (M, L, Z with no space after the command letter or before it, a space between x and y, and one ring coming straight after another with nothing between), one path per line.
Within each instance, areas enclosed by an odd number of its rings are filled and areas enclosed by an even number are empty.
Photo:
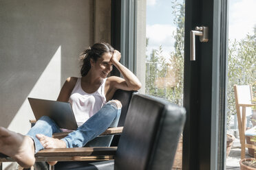
M120 88L122 90L139 90L141 88L140 81L138 80L136 75L134 75L134 73L129 71L129 69L127 69L119 62L120 58L120 52L115 50L111 58L111 63L114 64L114 66L116 66L116 68L118 69L118 71L120 71L124 79L116 76L109 77L108 80L110 83L110 88Z

